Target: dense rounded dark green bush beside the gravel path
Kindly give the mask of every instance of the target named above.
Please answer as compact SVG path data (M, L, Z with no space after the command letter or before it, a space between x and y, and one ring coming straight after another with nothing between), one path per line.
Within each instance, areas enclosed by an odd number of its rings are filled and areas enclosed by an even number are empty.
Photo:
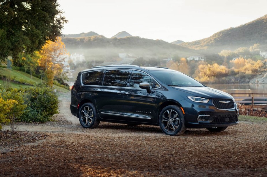
M48 122L58 112L58 97L50 86L35 86L25 90L24 101L27 104L21 121Z

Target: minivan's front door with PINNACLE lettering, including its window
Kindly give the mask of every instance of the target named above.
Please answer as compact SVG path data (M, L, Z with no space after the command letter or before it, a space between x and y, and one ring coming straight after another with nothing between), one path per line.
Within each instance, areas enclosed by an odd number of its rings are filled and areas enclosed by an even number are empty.
M148 82L151 93L139 88L139 84ZM154 79L146 73L132 70L130 82L124 92L124 120L135 122L154 122L156 88ZM156 83L156 82L155 82Z

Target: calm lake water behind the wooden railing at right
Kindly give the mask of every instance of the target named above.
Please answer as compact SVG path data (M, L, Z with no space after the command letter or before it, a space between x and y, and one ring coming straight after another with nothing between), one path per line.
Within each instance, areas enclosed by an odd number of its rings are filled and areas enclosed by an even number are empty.
M267 93L267 84L215 84L206 86L226 93Z

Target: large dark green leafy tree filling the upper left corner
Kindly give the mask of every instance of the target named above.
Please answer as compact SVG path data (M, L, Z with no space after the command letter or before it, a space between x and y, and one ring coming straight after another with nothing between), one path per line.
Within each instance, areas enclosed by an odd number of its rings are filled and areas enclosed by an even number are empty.
M0 0L0 59L38 51L61 35L63 24L57 0Z

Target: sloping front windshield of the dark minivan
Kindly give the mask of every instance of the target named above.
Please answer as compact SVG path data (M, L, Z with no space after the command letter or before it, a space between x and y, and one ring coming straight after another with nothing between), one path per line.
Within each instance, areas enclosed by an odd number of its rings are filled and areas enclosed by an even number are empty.
M195 79L177 71L150 71L161 82L168 86L195 86L204 87L201 83L197 82Z

